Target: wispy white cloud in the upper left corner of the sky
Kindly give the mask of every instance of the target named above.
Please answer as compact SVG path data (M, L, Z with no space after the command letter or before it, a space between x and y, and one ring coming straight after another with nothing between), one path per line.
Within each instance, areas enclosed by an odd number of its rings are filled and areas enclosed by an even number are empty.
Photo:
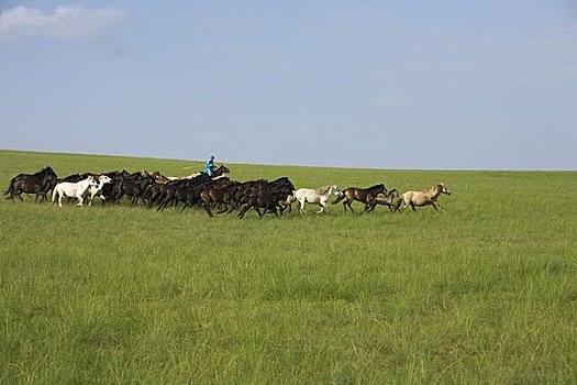
M80 6L62 6L54 13L44 13L20 6L0 13L0 41L15 36L86 41L124 19L125 12L114 8L91 10Z

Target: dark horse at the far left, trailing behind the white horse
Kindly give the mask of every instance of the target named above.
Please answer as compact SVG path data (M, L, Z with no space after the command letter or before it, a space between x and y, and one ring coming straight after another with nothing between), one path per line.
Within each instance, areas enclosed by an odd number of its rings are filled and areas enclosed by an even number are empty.
M47 194L56 186L57 176L52 167L44 167L42 170L36 174L19 174L10 180L10 186L4 191L4 195L8 196L5 199L14 199L19 197L22 201L22 193L24 194L35 194L35 201L44 201Z

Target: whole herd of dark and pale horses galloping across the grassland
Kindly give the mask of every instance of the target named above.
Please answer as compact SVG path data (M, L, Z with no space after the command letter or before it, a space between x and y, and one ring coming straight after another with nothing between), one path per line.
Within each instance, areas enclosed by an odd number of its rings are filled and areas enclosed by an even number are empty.
M385 185L378 184L368 188L349 187L344 190L336 185L324 186L318 189L297 189L286 176L275 180L256 179L248 182L231 180L226 174L230 169L221 165L212 176L204 173L196 173L187 177L167 177L159 172L141 170L136 173L110 172L103 174L74 174L65 178L58 178L52 167L45 167L35 174L19 174L10 182L4 191L7 199L22 199L22 194L35 195L35 201L42 202L52 193L52 202L58 200L62 207L63 198L68 197L77 200L78 206L92 204L98 197L102 204L118 204L124 197L132 205L142 202L147 208L156 206L158 211L167 207L181 205L182 210L187 207L200 207L213 217L213 209L218 213L237 211L238 218L254 209L262 218L266 213L278 217L288 209L291 211L292 204L299 202L300 213L306 213L306 205L320 206L319 213L326 210L326 204L332 196L335 197L333 205L343 202L345 212L347 208L354 212L352 204L362 202L365 207L363 212L371 212L378 205L387 206L391 212L403 211L406 208L432 206L436 211L444 212L439 205L439 196L451 195L451 191L442 183L420 191L406 191L399 194L397 189L388 190Z

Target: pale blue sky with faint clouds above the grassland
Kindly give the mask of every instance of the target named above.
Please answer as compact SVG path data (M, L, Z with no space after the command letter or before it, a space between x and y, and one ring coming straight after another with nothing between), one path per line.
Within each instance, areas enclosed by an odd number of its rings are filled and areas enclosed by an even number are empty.
M0 148L577 169L577 2L0 0Z

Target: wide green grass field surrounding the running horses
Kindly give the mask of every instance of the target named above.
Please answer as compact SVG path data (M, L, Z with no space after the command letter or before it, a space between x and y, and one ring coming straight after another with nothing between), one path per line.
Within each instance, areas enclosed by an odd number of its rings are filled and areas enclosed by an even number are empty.
M0 151L0 187L46 165L202 167ZM0 383L577 383L577 173L228 166L453 195L260 220L1 199Z

